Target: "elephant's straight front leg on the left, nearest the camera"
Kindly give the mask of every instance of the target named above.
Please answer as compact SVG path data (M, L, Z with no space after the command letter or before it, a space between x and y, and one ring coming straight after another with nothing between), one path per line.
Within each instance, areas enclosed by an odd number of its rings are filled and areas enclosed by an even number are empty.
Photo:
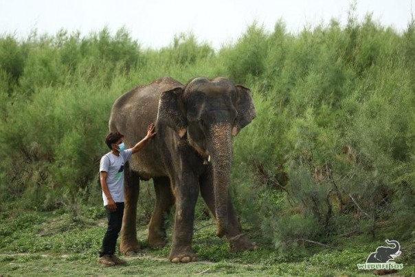
M183 180L177 180L173 184L176 197L175 227L172 249L168 256L172 263L196 261L196 254L192 250L192 238L194 206L199 196L199 184L194 176L183 173L183 177Z

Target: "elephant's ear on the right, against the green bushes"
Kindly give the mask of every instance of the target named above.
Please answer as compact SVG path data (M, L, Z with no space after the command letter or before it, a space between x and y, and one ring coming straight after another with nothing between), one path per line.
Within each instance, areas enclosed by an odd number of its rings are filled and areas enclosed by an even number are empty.
M236 99L238 116L232 129L232 135L237 135L240 129L247 126L256 116L251 90L241 85L236 85L236 89L238 91L238 97Z

